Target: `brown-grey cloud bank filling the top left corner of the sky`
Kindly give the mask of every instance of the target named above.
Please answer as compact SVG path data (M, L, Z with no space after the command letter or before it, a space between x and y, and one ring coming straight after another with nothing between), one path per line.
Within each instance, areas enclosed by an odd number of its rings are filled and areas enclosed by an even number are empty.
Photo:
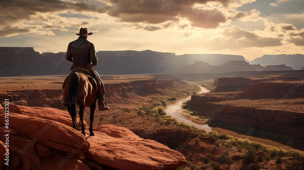
M4 17L0 17L0 36L14 36L25 33L55 35L50 29L69 31L69 27L91 26L91 22L77 20L69 21L59 14L74 12L105 12L99 1L64 2L61 0L22 0L16 5L11 1L0 0ZM94 2L94 3L93 3ZM97 5L95 5L97 4ZM8 8L11 6L13 8ZM99 7L99 6L100 7ZM71 14L71 12L69 12Z

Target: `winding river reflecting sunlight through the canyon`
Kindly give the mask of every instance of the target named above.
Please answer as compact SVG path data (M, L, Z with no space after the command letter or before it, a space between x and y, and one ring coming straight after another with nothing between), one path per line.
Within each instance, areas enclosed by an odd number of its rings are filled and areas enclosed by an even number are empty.
M200 87L200 88L201 88L201 91L198 94L209 92L209 90L207 90L205 87ZM191 99L191 96L182 97L179 100L169 101L167 103L167 106L164 106L165 112L167 113L167 115L170 115L171 117L176 118L180 122L185 122L186 124L194 125L195 127L205 129L206 131L217 131L219 134L226 132L227 134L230 134L233 137L238 137L238 138L246 137L250 141L256 141L256 142L263 143L266 145L272 145L272 146L276 146L278 148L282 147L286 150L289 150L292 148L292 149L304 151L304 145L292 143L292 145L290 146L290 142L288 140L286 140L286 141L279 140L277 138L269 138L266 136L261 136L261 135L256 135L256 134L252 134L250 136L245 136L246 132L227 130L227 129L223 129L220 127L211 127L206 123L203 123L201 121L198 121L198 120L195 120L195 119L192 119L192 118L179 114L179 112L182 110L181 104L184 101L188 101L190 99ZM289 145L289 146L287 146L287 145Z

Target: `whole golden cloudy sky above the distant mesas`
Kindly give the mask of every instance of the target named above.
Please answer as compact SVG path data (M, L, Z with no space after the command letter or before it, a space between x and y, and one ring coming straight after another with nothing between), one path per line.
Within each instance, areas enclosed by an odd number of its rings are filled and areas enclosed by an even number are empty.
M303 0L0 0L0 46L66 52L87 28L96 51L304 54Z

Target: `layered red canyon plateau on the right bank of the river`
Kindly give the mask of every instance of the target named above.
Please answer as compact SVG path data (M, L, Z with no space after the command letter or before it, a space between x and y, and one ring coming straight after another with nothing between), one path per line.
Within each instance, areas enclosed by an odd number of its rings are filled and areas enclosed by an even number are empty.
M257 131L304 139L304 73L219 77L209 93L195 94L188 108L221 126L258 127Z

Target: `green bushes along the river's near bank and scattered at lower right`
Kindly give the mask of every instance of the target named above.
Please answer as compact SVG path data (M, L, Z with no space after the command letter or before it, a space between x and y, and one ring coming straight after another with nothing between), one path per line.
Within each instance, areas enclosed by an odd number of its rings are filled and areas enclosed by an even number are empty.
M166 100L164 100L164 101L166 101ZM163 103L166 103L166 102L163 102L163 100L158 101L157 103L151 104L151 106L148 108L146 108L146 107L141 108L140 110L142 110L142 112L138 112L138 113L144 113L146 115L154 117L156 119L156 121L160 122L160 124L167 124L169 126L177 126L177 127L182 127L185 129L191 129L192 132L197 133L198 136L203 137L203 138L218 139L215 143L216 146L222 145L223 147L226 147L226 148L236 147L237 151L239 151L239 152L241 152L241 151L243 151L243 149L245 149L247 151L243 155L243 159L246 163L254 162L255 159L257 159L258 161L270 160L271 157L274 157L277 155L280 155L280 156L281 155L282 156L291 155L291 156L295 156L298 158L304 157L304 154L300 151L296 151L296 150L292 150L292 149L289 151L286 151L283 148L277 148L277 147L257 143L254 141L249 141L249 139L247 139L247 138L241 139L241 138L233 137L225 132L222 134L218 134L218 132L216 132L216 131L207 132L206 130L199 129L198 127L195 127L193 125L190 126L189 124L186 124L184 122L179 122L179 121L177 121L177 119L166 115L166 113L164 112L164 107L162 105ZM198 144L199 142L200 142L199 139L195 139L196 144ZM178 144L176 144L176 146L177 145ZM263 151L265 153L265 155L264 156L258 155L256 157L256 155L255 155L256 151ZM223 154L220 155L219 162L224 163L224 164L228 165L228 167L230 167L230 165L233 164L233 160L230 157L228 157L229 155L230 155L229 151L226 150ZM204 163L206 164L206 168L212 167L212 169L214 169L214 170L220 170L220 165L218 163L211 162L211 160L210 160L211 156L212 156L211 154L207 154L204 158ZM197 167L196 165L192 164L188 157L185 157L185 158L188 161L188 167L190 167L190 169L195 169L195 170L200 169L200 167ZM282 158L280 158L280 157L278 157L276 159L276 162L279 165L281 165L281 163L282 163L281 159ZM298 170L299 167L301 167L301 165L298 165L298 163L296 161L295 162L293 161L293 163L287 164L285 168L287 170L289 170L289 169ZM280 168L280 166L278 166L278 168ZM179 168L179 169L182 170L183 168ZM252 170L260 169L260 165L257 163L251 164L250 169L252 169ZM281 170L281 169L278 169L278 170Z

